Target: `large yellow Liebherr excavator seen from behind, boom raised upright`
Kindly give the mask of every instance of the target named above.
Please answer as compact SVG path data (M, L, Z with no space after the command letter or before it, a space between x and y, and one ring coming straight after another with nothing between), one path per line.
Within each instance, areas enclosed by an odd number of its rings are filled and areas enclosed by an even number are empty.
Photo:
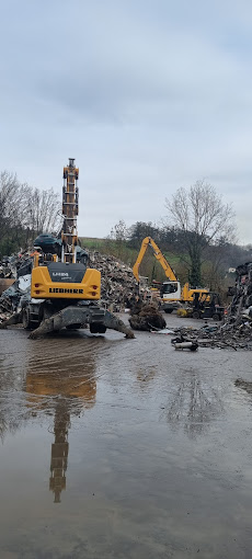
M21 311L1 324L22 322L31 329L30 338L38 338L62 328L90 328L91 333L105 333L106 328L134 338L134 332L117 317L99 306L101 272L77 262L79 169L75 159L64 168L61 258L36 251L31 278L31 296L22 301Z

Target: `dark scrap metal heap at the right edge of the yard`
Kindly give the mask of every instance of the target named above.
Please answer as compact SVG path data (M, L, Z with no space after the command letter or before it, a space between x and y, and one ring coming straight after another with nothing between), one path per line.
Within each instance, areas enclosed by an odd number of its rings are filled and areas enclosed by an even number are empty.
M225 323L220 327L208 323L197 330L180 328L176 333L197 340L205 347L252 350L252 262L238 266L236 273L236 293Z

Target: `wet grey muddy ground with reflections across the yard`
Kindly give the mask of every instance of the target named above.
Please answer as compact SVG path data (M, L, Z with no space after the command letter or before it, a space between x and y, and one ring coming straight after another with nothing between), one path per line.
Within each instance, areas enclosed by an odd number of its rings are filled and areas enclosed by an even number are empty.
M238 377L252 380L251 352L1 331L1 559L251 558Z

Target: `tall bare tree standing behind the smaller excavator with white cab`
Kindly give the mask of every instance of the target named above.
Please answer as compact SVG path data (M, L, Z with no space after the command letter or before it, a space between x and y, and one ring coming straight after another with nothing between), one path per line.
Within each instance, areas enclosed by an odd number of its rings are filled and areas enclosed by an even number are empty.
M165 207L172 224L182 231L184 248L190 262L190 281L202 283L204 250L220 237L234 240L234 213L230 204L222 204L216 189L205 180L197 181L188 190L179 189Z

